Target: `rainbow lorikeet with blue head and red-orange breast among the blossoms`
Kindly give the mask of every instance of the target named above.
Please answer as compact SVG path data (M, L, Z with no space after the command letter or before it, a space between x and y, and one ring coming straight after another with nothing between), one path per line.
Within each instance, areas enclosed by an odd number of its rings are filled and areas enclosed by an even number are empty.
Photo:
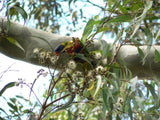
M71 41L61 43L55 48L55 55L67 53L73 56L73 60L82 63L85 66L94 66L94 62L90 57L89 51L84 44L78 39L73 38Z

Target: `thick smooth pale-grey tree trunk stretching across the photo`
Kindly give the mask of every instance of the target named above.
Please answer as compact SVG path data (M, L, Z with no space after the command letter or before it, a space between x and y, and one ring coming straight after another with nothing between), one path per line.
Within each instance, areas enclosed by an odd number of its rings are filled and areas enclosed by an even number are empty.
M60 43L72 39L72 37L69 36L61 36L36 30L14 22L11 22L8 31L7 26L7 19L0 18L0 52L8 57L32 64L41 65L37 59L32 57L34 48L44 48L53 51ZM8 39L10 39L10 42ZM15 41L17 41L19 45L12 44L13 42L15 43ZM115 45L112 45L111 48L112 54L115 54ZM145 64L142 64L138 49L133 45L123 45L118 52L116 60L123 60L134 76L146 79L159 78L160 62L156 63L154 56L155 49L160 52L160 46L152 46L149 51L147 46L140 46L140 48L147 54ZM102 49L102 44L94 41L93 45L88 49L89 51L100 50ZM67 57L68 56L63 55L59 63L65 63Z

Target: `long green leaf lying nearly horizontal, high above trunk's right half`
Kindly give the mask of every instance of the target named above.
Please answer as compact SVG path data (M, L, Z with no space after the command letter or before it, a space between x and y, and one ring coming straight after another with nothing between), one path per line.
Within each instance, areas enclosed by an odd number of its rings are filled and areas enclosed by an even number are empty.
M116 18L113 18L108 21L108 23L114 23L114 22L129 22L132 20L132 17L130 15L121 15Z

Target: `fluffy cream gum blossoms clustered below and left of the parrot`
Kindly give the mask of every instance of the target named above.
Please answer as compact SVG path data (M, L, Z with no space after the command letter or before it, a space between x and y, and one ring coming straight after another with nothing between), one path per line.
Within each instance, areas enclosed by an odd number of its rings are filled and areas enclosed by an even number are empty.
M58 63L59 56L53 55L53 53L48 50L35 48L33 49L33 54L35 54L40 60L40 63L44 65L48 66ZM106 73L106 64L107 59L102 59L102 54L100 52L80 55L78 59L75 59L72 55L68 63L63 66L64 72L61 78L65 78L64 85L67 87L68 91L84 96L86 90L91 91L95 89L94 87L97 81L102 81L100 83L100 87L102 87ZM79 67L82 67L82 69L79 70ZM92 99L93 96L88 94L86 97Z

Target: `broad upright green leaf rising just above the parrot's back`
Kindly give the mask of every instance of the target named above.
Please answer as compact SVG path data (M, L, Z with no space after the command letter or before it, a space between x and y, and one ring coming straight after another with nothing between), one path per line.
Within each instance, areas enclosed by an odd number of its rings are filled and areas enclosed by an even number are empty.
M84 31L83 31L82 42L85 42L87 37L91 34L91 32L93 30L93 26L94 26L93 22L94 22L94 19L90 19L87 22L87 24L86 24L86 26L84 28Z

